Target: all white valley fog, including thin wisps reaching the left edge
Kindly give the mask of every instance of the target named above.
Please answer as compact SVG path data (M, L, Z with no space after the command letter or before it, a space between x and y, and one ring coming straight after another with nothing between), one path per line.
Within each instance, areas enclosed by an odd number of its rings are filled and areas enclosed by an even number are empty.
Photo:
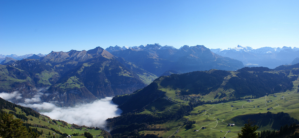
M25 107L34 108L48 112L40 112L51 119L63 120L70 124L86 125L89 127L104 128L106 119L120 116L122 112L111 100L112 97L95 100L91 103L79 104L74 107L57 107L53 102L42 102L39 98L42 93L36 94L33 98L24 99L23 103L16 103ZM20 93L0 93L0 97L10 101L21 99Z

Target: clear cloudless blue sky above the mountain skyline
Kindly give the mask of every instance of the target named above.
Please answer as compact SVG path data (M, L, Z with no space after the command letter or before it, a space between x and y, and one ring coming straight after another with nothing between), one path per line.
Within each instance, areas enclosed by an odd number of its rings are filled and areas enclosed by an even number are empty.
M298 0L1 0L0 54L154 43L299 47L298 7Z

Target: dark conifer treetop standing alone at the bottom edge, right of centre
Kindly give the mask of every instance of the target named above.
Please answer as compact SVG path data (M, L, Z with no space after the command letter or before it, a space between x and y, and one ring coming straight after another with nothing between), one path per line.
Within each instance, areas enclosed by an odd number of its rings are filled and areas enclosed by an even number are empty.
M242 127L241 134L238 133L238 138L258 138L257 128L259 128L257 125L253 126L253 123L250 119L248 119L248 123Z

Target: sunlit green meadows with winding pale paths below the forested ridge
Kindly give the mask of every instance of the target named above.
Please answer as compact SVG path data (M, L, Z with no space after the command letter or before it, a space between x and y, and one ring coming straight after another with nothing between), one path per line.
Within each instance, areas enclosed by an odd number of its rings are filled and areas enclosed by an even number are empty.
M218 104L207 104L197 106L191 111L191 114L184 116L183 119L173 120L166 122L164 124L151 125L150 127L168 127L171 128L169 131L140 131L141 134L156 134L162 137L237 137L238 133L241 133L241 128L246 123L248 119L247 115L267 113L270 111L272 114L277 114L278 112L288 113L291 117L299 119L299 93L298 93L298 81L293 82L294 87L290 91L270 94L268 96L263 96L257 99L250 99L251 102L246 100L231 101L226 103ZM161 88L160 90L167 92L166 95L173 101L180 102L175 104L177 106L187 104L188 101L184 101L176 97L175 90L170 88ZM275 96L274 96L275 95ZM201 97L200 100L214 100L213 96L207 95ZM183 103L181 103L183 102ZM175 109L175 105L169 106L169 108ZM233 106L233 107L232 107ZM157 114L165 113L164 111L147 108L144 112L145 114ZM268 110L268 108L270 108ZM151 112L156 110L156 112ZM168 111L169 112L169 111ZM200 113L202 112L202 113ZM200 113L200 114L199 114ZM196 121L192 125L192 128L187 129L184 122ZM235 124L235 126L228 126L228 124ZM272 130L273 122L268 124L260 124L261 122L256 122L260 128L257 131ZM205 129L201 129L205 127ZM196 131L195 131L196 130ZM231 132L227 132L231 131Z

